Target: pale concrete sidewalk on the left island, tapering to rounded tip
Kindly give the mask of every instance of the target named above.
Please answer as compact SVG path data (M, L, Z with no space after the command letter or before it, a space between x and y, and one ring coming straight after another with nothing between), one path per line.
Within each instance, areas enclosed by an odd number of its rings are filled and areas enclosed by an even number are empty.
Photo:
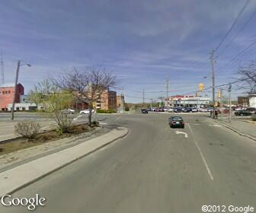
M67 148L2 172L0 173L0 196L10 194L30 183L34 183L43 178L43 176L91 154L118 138L123 138L127 133L128 129L119 127L86 143L75 145L72 148Z

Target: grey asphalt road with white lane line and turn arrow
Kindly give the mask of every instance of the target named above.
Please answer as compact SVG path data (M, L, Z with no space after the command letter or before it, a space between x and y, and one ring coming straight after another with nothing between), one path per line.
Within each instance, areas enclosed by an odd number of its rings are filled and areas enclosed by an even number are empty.
M231 212L229 205L255 209L256 143L203 115L184 115L185 129L170 129L168 116L107 116L104 125L126 126L130 133L13 197L40 194L46 205L36 212L56 213L199 213L202 205L225 205L225 212Z

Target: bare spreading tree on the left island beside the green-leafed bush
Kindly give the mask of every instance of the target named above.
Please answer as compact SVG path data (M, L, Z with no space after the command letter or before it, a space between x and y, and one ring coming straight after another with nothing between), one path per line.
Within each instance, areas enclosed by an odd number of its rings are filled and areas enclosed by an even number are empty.
M88 122L91 125L91 110L101 94L115 87L116 76L105 68L88 67L82 71L74 68L72 72L66 72L53 80L54 84L62 90L71 91L75 99L88 104Z

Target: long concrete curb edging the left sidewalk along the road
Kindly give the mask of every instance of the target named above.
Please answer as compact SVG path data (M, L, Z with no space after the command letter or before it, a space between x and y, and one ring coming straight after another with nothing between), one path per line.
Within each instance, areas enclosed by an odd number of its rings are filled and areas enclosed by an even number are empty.
M34 178L33 180L27 181L27 183L21 183L20 186L15 186L13 189L6 189L5 192L0 192L0 198L2 198L2 196L6 195L6 194L12 194L12 193L14 193L14 192L17 192L18 190L23 189L24 187L29 186L30 184L35 183L35 182L37 182L38 180L43 179L43 177L48 176L48 175L50 175L51 173L54 173L54 172L56 172L57 170L60 170L60 169L62 169L63 167L66 167L66 166L68 166L69 164L72 164L72 163L74 163L75 161L78 161L79 159L81 159L81 158L83 158L83 157L86 157L86 156L88 156L89 154L92 154L92 153L94 153L95 151L98 151L99 149L104 148L104 147L107 146L107 145L110 145L110 144L113 143L114 141L117 141L117 140L120 139L120 138L124 138L124 137L129 133L129 130L126 129L126 128L123 128L123 129L125 130L125 132L124 132L122 135L119 135L118 137L113 138L113 139L111 139L110 141L107 141L107 142L104 143L103 145L100 145L100 146L98 146L98 147L93 148L91 151L85 152L85 154L82 154L82 155L79 155L78 157L75 157L74 159L72 159L72 161L69 161L69 162L67 162L67 163L65 163L65 164L61 164L60 166L57 166L57 167L53 168L52 170L49 170L49 171L47 171L46 173L43 173L43 174L41 174L40 176L37 176L37 177ZM109 132L108 132L108 133L109 133ZM106 133L106 134L107 134L107 133ZM106 135L106 134L104 134L104 135ZM104 136L104 135L101 135L101 136ZM95 138L94 138L94 139L95 139ZM86 141L86 142L88 142L88 141ZM51 155L51 154L50 154L50 155ZM50 156L50 155L49 155L49 156ZM42 157L42 158L43 158L43 157ZM31 162L32 162L32 161L31 161ZM30 163L30 162L28 162L27 164L29 164L29 163ZM14 168L14 169L15 169L15 168ZM3 173L5 173L5 172L3 172ZM1 173L0 173L0 175L1 175Z

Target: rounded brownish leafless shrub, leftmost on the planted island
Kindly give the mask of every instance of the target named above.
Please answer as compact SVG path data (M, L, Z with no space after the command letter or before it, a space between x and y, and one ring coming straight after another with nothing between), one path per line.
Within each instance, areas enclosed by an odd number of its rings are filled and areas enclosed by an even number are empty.
M14 132L28 140L35 138L39 131L40 125L34 121L18 122L14 126Z

